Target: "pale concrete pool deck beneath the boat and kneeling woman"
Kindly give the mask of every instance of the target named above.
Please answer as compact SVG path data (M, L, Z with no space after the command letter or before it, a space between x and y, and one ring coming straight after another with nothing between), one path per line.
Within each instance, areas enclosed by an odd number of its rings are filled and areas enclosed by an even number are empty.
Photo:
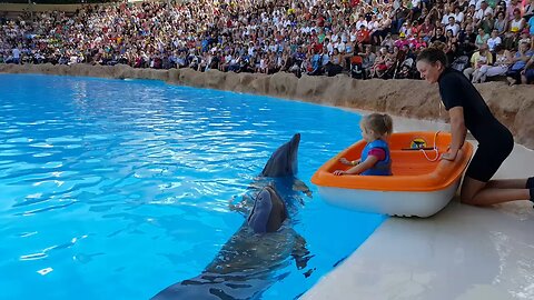
M394 118L395 131L448 124ZM534 151L516 144L495 178L534 176ZM388 218L301 299L534 299L534 209L455 198L427 218Z

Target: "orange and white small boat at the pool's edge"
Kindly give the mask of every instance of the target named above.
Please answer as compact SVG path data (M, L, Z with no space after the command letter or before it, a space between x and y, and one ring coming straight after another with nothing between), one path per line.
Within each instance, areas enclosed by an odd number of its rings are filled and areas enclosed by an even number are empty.
M334 176L349 166L339 162L359 159L366 142L360 140L328 160L313 176L326 202L357 211L389 216L429 217L454 197L462 173L473 154L465 142L454 161L439 160L451 144L446 132L400 132L388 140L393 176Z

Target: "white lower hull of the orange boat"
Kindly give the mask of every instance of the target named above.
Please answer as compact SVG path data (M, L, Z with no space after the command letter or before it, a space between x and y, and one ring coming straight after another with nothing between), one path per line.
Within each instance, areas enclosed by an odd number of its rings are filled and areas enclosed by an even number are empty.
M398 217L431 217L453 199L459 179L437 191L374 191L318 187L323 200L329 204L362 212Z

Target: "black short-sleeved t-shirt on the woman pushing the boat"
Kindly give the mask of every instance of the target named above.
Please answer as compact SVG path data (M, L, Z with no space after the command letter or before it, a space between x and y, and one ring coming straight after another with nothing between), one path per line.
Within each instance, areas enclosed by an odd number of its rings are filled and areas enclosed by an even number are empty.
M446 68L437 82L445 109L448 111L463 107L465 127L478 142L491 141L492 131L503 129L503 124L495 119L481 93L462 72Z

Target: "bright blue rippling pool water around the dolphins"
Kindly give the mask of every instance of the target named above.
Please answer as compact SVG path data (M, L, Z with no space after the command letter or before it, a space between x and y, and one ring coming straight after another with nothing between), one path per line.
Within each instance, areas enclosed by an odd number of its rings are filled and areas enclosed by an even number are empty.
M159 81L0 74L2 299L148 299L198 276L243 224L229 209L301 133L314 191L293 216L310 252L263 299L295 299L384 220L325 204L314 171L359 116ZM305 276L307 274L307 277Z

